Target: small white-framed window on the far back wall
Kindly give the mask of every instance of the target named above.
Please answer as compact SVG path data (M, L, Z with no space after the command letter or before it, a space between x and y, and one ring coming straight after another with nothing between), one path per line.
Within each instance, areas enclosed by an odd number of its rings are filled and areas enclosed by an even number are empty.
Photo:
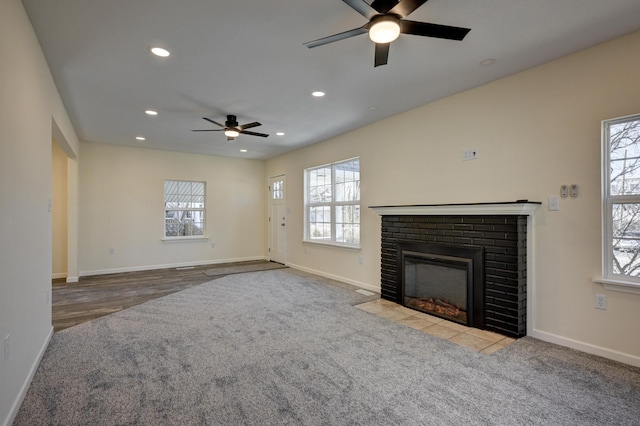
M204 236L205 183L164 181L164 236Z

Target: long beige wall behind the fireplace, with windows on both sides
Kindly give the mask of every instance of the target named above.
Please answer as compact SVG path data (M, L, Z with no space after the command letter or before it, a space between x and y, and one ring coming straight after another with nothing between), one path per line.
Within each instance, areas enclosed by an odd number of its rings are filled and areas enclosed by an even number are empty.
M640 295L592 282L601 272L600 124L640 112L638 51L635 33L267 161L267 176L289 182L288 263L379 288L380 218L367 206L542 201L533 334L640 365L640 339L630 338ZM462 161L471 148L479 158ZM302 243L304 168L353 156L365 207L361 252ZM579 197L548 211L563 184L579 185ZM608 310L594 308L596 292L608 296Z

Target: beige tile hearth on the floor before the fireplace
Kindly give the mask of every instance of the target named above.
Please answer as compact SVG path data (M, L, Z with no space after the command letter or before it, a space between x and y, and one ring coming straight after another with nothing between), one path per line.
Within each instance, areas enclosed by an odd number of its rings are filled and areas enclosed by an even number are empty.
M355 307L415 330L466 346L486 355L497 352L515 341L511 337L447 321L433 315L405 308L385 299L376 299Z

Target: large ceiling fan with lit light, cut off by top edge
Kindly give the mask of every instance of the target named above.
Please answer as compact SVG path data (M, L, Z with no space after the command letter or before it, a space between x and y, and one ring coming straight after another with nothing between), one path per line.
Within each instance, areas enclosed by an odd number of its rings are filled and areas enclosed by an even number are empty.
M389 45L398 38L400 33L459 41L471 31L470 28L450 27L404 19L426 3L427 0L374 0L371 4L364 0L342 1L367 18L369 22L360 28L304 43L305 46L311 49L368 32L369 38L376 44L374 67L377 67L387 63Z

